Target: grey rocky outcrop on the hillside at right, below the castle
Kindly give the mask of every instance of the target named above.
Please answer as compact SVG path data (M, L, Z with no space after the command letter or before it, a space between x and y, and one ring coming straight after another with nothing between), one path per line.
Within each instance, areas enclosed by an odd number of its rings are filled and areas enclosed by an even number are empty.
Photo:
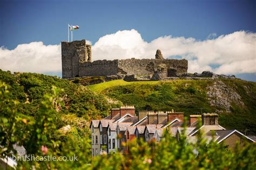
M231 103L243 106L241 96L231 87L227 87L222 81L216 81L207 87L207 96L210 104L217 108L216 112L221 110L231 111ZM219 110L220 109L220 110Z

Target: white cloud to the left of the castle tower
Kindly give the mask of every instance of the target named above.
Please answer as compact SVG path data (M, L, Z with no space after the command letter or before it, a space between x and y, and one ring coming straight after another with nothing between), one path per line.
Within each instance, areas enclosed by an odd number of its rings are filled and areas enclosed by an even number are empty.
M43 42L30 42L9 50L0 47L0 68L12 72L60 72L60 45L44 45Z

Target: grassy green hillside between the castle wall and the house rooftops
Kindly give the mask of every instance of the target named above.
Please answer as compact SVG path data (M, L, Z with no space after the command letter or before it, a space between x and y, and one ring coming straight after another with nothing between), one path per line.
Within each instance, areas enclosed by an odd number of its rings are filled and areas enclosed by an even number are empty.
M220 98L209 98L208 87L224 88ZM224 83L223 85L219 85ZM224 86L224 87L223 87ZM137 110L171 110L185 112L185 115L216 112L220 124L227 129L256 134L256 83L239 79L220 80L176 80L125 82L123 80L88 86L97 93L107 95L124 104L133 104ZM227 94L225 94L227 93ZM218 94L218 93L216 93ZM238 94L241 98L232 98ZM211 100L225 99L230 110L221 105L210 104ZM222 101L221 101L222 102ZM242 104L240 104L242 103Z

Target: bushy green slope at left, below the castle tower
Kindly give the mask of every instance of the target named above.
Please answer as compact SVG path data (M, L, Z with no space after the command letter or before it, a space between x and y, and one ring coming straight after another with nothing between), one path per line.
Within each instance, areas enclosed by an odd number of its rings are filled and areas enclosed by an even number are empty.
M52 86L64 89L60 98L65 106L55 115L57 129L60 129L55 138L63 141L68 136L62 132L63 126L72 127L70 135L73 138L87 136L90 120L105 117L112 107L104 95L55 76L35 73L11 74L0 69L0 81L9 84L11 99L19 102L17 110L27 119L37 119L38 109L45 100L44 95L52 94Z

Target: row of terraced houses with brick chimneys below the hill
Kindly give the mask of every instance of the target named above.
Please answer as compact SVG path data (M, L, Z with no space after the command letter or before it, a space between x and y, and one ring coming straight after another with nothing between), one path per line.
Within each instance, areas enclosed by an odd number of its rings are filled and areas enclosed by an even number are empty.
M218 114L190 115L189 121L185 122L183 112L139 111L136 116L133 105L124 105L111 109L111 114L104 119L91 121L92 156L124 152L128 149L124 144L134 138L158 142L164 137L166 129L172 137L179 140L184 123L187 126L187 142L190 143L197 142L199 131L207 141L214 139L228 147L234 147L237 141L241 145L244 142L255 142L255 137L245 136L237 130L226 130L220 126Z

